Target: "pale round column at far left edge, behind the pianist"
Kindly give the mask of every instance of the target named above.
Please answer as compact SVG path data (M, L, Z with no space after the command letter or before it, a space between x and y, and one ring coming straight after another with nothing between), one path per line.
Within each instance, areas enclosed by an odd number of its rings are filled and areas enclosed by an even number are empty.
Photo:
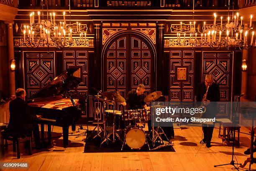
M15 97L15 72L10 70L11 60L14 59L13 48L13 21L5 21L8 36L8 72L9 72L9 95Z

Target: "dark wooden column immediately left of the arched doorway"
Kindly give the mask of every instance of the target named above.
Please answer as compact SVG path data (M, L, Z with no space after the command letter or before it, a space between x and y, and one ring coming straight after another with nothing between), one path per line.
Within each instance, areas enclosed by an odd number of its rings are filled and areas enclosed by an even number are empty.
M101 24L100 23L95 23L94 25L94 73L95 73L95 80L94 80L94 86L96 89L100 90L102 87L102 79L101 79L101 74L102 73L102 66L101 66L101 61L102 61L102 56L101 56L101 40L100 40L100 28ZM103 87L102 87L103 89Z

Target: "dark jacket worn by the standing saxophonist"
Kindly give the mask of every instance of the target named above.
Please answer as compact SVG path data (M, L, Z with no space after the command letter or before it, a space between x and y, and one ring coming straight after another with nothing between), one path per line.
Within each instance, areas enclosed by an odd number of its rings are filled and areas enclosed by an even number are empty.
M201 102L204 98L204 94L206 93L206 86L205 82L198 84L197 87L197 107L201 105ZM203 117L206 118L213 118L218 113L218 105L217 102L220 101L220 88L218 84L214 82L209 87L207 92L207 100L210 100L210 104L206 106L206 112L204 113ZM198 105L199 104L199 105Z

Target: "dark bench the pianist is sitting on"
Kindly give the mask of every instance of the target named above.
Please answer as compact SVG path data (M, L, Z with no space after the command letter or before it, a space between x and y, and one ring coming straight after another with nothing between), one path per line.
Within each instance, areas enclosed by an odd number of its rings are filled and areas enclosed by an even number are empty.
M2 132L3 133L3 132ZM6 133L1 134L1 151L2 155L5 154L5 143L4 140L10 140L13 141L13 152L17 151L17 158L20 158L20 143L21 141L29 140L29 155L32 155L32 136L28 137L13 137L12 135L7 135Z

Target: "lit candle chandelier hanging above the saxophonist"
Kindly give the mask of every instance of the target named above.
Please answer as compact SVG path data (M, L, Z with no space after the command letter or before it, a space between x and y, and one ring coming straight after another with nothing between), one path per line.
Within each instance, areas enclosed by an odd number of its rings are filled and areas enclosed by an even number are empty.
M229 7L228 7L229 9ZM194 9L193 9L194 15ZM184 33L183 41L181 41L180 33L177 33L177 42L180 46L210 46L213 49L219 48L239 48L248 49L255 48L256 40L254 39L254 31L252 26L252 18L250 15L249 27L244 27L243 17L240 17L239 13L234 15L234 3L232 11L232 19L228 15L227 22L223 23L223 17L220 17L220 23L216 23L217 15L214 13L213 24L207 24L204 22L202 28L196 33L195 21L193 17L193 23L190 22L189 32L190 38L186 40L186 33ZM182 22L180 23L180 32L182 32ZM198 35L199 34L199 35ZM200 35L201 34L201 35ZM182 35L183 36L183 35ZM251 39L248 39L248 37Z

